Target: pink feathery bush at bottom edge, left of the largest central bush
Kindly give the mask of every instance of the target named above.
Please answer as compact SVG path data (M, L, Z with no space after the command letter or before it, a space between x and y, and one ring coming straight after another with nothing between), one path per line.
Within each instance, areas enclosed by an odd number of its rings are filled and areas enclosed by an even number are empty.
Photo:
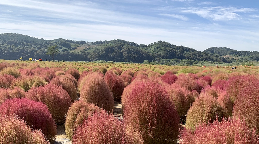
M127 133L123 121L105 111L83 121L73 136L73 144L142 144L139 135Z

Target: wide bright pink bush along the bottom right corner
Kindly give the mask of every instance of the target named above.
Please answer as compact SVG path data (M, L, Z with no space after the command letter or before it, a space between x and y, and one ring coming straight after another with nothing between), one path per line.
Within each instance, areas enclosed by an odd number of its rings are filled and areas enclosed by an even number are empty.
M211 124L200 124L194 131L180 130L180 144L258 144L259 137L255 129L245 124L244 120L230 119Z

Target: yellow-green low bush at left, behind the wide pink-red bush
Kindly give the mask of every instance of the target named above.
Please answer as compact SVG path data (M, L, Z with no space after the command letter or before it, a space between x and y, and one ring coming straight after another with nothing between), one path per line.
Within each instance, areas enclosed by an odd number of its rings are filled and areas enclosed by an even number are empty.
M12 86L18 86L27 92L32 87L44 86L46 84L47 82L38 75L24 75L16 79L16 81L13 81Z

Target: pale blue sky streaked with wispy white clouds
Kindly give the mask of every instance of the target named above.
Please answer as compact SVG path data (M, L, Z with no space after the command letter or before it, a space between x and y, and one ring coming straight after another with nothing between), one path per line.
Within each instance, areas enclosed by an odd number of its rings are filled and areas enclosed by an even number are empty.
M0 0L0 33L259 51L259 1Z

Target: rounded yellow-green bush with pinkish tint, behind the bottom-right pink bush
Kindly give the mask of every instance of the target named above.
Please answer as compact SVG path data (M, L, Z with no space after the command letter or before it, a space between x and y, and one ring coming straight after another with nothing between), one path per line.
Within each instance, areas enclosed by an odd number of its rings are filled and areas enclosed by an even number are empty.
M186 126L194 130L199 124L213 122L226 115L226 110L212 96L199 96L195 99L186 115Z

